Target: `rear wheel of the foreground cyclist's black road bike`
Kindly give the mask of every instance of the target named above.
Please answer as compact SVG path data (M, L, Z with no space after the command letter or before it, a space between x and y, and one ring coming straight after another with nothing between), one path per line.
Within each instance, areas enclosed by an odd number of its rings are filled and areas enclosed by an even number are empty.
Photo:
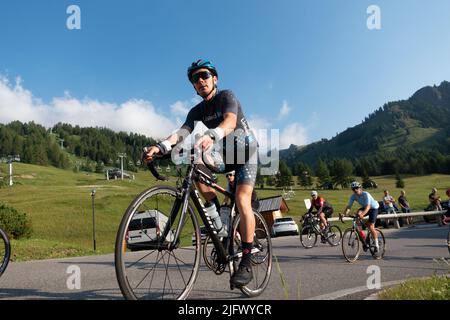
M255 235L253 239L253 248L258 248L260 251L258 253L252 254L252 270L253 270L253 280L246 286L240 287L244 295L247 297L259 296L270 280L270 275L272 273L272 241L270 237L269 228L267 227L266 221L259 212L253 211L255 216ZM240 246L240 234L239 234L239 222L240 215L236 215L233 222L233 238L232 244L235 246L234 252L242 252ZM239 263L238 260L235 261L235 265ZM262 277L260 277L262 275ZM258 281L262 278L262 281Z

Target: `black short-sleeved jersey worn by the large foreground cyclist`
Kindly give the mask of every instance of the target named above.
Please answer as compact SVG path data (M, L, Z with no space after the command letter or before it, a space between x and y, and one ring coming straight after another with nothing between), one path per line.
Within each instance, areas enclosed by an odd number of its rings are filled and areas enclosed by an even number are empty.
M230 90L219 91L210 101L203 100L193 107L189 111L182 128L192 132L196 121L203 122L209 129L217 128L227 112L236 115L236 129L242 129L246 135L250 134L250 128L242 113L241 104Z

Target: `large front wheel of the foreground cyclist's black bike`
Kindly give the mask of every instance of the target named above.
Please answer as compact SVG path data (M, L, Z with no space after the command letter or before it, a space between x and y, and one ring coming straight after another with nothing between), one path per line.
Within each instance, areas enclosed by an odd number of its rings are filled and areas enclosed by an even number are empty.
M200 232L191 206L184 219L179 209L171 220L176 199L175 188L158 186L141 193L126 210L115 247L116 276L126 299L185 299L192 290Z

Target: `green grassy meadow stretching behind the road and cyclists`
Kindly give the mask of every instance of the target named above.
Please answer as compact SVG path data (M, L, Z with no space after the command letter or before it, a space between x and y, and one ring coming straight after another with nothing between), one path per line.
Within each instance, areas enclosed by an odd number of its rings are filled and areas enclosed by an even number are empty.
M0 175L5 176L6 172L7 165L0 164ZM95 253L113 252L116 232L129 203L144 189L161 184L148 171L139 171L135 176L136 180L106 181L102 174L74 173L53 167L15 163L15 185L0 188L0 201L27 213L32 221L33 235L30 239L12 241L12 260L94 254L90 195L92 189L96 189ZM381 199L385 188L391 190L395 198L398 197L400 191L395 188L394 177L373 179L379 184L378 189L370 191L376 199ZM437 187L441 195L445 196L443 190L450 186L448 175L404 177L404 181L407 197L416 211L422 211L427 206L432 187ZM219 182L225 185L222 175L219 175ZM174 183L175 178L167 184ZM289 215L299 217L305 212L303 199L309 198L310 190L297 186L294 190L294 199L287 201ZM260 198L281 194L281 190L275 188L258 189L257 192ZM351 192L327 190L322 194L333 205L335 212L340 212Z

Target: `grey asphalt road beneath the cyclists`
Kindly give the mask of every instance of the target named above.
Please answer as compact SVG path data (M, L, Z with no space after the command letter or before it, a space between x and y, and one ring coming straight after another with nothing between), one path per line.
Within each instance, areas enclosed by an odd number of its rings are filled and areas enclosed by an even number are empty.
M382 288L409 277L445 274L450 268L436 259L449 260L448 227L434 224L401 230L384 230L387 250L383 260L362 253L356 263L343 258L341 247L318 244L303 249L297 236L273 239L272 277L258 299L364 299L376 290L367 289L368 267L378 266ZM75 266L75 267L74 267ZM79 289L68 288L73 270L79 267ZM73 269L75 268L75 269ZM285 285L283 285L283 281ZM229 276L214 275L203 264L190 299L243 299L230 291ZM76 282L69 281L69 284ZM11 263L0 278L0 299L122 299L114 271L114 256L91 256Z

